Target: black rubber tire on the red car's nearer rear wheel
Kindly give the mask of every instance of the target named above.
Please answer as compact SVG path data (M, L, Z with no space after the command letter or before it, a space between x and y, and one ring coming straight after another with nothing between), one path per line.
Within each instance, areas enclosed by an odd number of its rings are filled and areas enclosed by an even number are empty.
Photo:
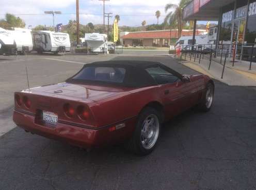
M144 126L143 123L150 116L155 116L158 119L158 124L159 124L158 125L158 135L157 135L156 140L154 140L155 141L154 145L150 148L145 148L142 145L142 141L141 141L141 130L142 130L142 127ZM154 148L157 145L160 135L161 135L161 114L152 107L146 107L145 109L143 109L141 111L140 115L138 116L136 127L133 132L133 136L127 142L126 146L134 154L139 155L139 156L146 156L154 150Z

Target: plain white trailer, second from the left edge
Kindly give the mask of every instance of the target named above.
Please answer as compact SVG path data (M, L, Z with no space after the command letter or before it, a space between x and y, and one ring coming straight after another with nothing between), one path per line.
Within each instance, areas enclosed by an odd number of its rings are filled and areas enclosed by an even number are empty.
M6 31L13 37L18 53L25 54L33 50L31 30L24 28L13 28L13 30Z

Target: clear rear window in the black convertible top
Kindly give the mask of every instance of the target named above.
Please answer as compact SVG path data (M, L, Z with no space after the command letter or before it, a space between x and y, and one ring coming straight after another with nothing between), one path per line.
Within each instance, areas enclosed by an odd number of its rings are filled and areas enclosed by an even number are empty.
M120 67L84 67L72 79L80 81L101 81L111 83L122 83L125 69Z

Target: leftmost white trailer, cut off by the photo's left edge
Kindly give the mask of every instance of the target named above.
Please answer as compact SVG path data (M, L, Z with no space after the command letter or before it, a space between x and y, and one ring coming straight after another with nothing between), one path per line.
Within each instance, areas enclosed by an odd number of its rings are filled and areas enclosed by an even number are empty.
M16 52L16 44L5 29L0 28L0 55L12 55Z

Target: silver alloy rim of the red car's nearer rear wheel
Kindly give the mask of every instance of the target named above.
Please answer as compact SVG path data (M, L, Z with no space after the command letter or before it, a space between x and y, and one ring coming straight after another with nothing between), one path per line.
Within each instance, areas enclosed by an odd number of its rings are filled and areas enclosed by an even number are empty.
M159 120L156 115L149 115L142 124L140 140L145 149L152 148L159 135Z

